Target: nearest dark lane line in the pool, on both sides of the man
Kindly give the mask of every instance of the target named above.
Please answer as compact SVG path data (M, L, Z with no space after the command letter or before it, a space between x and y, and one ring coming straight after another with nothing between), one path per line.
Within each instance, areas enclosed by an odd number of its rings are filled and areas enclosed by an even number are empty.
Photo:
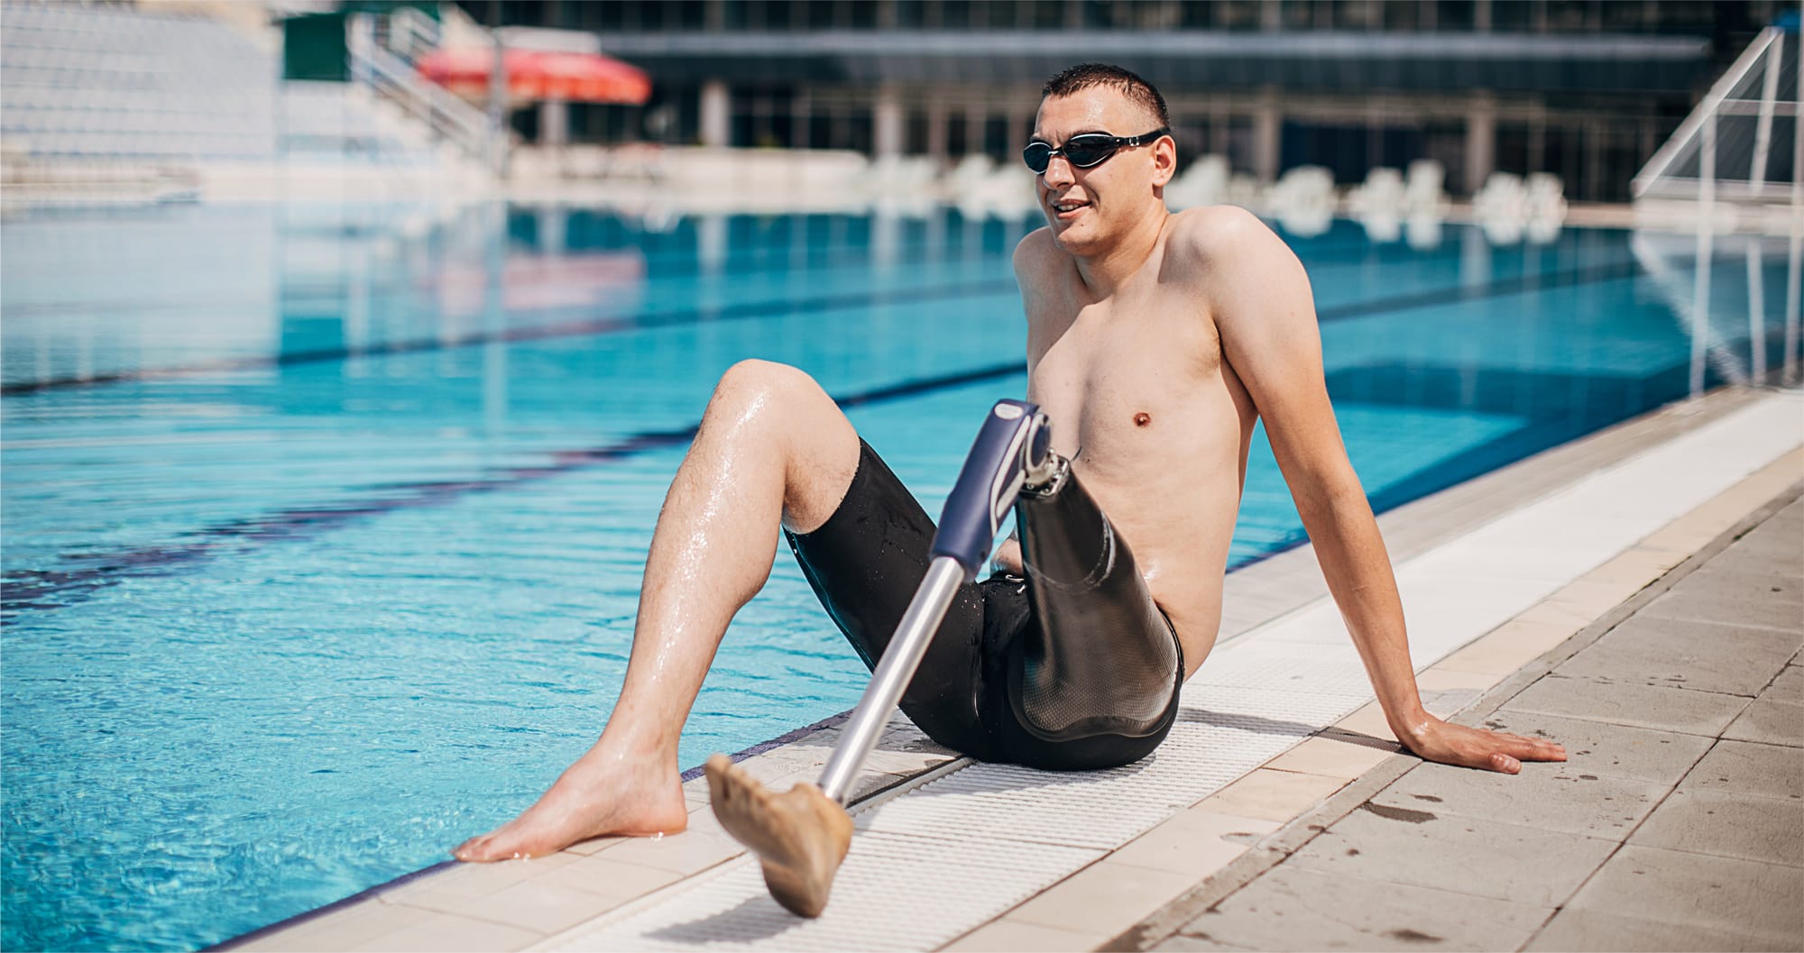
M1568 273L1555 273L1555 274L1528 274L1517 278L1505 278L1499 282L1490 282L1486 285L1443 289L1436 292L1389 298L1384 301L1389 301L1391 309L1394 310L1405 310L1414 307L1456 303L1477 298L1501 298L1508 294L1541 291L1551 287L1573 287L1586 282L1604 282L1633 274L1634 274L1633 264L1618 264L1618 265L1593 267L1593 269L1573 269ZM1378 307L1384 301L1358 301L1337 309L1328 309L1326 312L1322 312L1321 319L1333 321L1344 318L1378 314L1385 310L1384 307ZM538 330L550 330L550 328L538 328ZM1026 366L1023 363L992 365L960 374L927 377L920 381L906 381L900 384L850 393L844 397L835 397L835 401L842 408L855 408L862 404L915 397L934 390L1003 379L1017 374L1026 374ZM45 599L52 596L67 599L78 594L114 585L115 581L124 578L166 574L182 565L206 561L222 554L244 552L253 545L263 545L283 540L314 538L366 516L379 516L384 513L395 513L402 509L447 505L464 498L465 495L491 493L496 489L507 489L536 480L545 480L550 476L570 473L574 469L586 469L592 466L612 464L626 457L635 457L639 453L646 453L651 449L660 449L687 442L689 439L695 437L700 422L682 430L635 433L617 444L608 444L603 448L556 451L552 453L550 464L547 466L512 467L498 473L492 478L390 484L384 487L377 487L386 491L386 495L381 498L346 502L341 505L285 509L267 516L233 520L229 523L216 523L188 534L191 541L182 541L182 543L133 547L119 551L110 556L65 554L60 556L56 561L78 563L78 569L22 570L7 576L4 592L0 592L0 612L11 614L29 608L58 608L65 603L45 601ZM0 617L0 625L7 625L7 619Z

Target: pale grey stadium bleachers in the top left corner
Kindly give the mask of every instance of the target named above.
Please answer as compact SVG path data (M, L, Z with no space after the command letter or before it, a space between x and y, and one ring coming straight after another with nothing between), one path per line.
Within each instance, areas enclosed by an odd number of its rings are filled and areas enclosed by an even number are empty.
M274 43L269 43L271 47ZM240 27L101 4L0 4L0 150L13 161L431 166L424 128L352 83L283 83Z

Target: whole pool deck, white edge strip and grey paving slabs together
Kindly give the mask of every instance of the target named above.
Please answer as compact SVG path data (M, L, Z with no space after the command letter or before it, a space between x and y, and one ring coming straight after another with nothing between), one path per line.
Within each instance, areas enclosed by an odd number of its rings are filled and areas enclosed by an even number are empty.
M1800 444L1795 392L1723 390L1380 518L1429 709L1544 731L1564 765L1398 753L1302 547L1229 578L1142 765L976 765L895 722L819 921L761 895L691 782L686 834L433 868L227 946L1795 949ZM835 738L741 763L783 789Z

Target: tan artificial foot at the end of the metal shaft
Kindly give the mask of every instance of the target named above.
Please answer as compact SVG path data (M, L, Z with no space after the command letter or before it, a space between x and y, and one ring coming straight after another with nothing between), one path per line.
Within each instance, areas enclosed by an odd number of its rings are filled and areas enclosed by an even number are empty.
M846 809L812 783L772 794L725 754L707 760L707 796L720 827L758 854L770 895L790 913L819 917L851 847Z

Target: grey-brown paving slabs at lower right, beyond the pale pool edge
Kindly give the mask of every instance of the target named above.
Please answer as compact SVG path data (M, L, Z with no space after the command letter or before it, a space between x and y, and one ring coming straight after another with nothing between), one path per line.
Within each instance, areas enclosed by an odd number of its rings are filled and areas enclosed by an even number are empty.
M1799 489L1459 713L1569 763L1387 758L1109 948L1799 949Z

